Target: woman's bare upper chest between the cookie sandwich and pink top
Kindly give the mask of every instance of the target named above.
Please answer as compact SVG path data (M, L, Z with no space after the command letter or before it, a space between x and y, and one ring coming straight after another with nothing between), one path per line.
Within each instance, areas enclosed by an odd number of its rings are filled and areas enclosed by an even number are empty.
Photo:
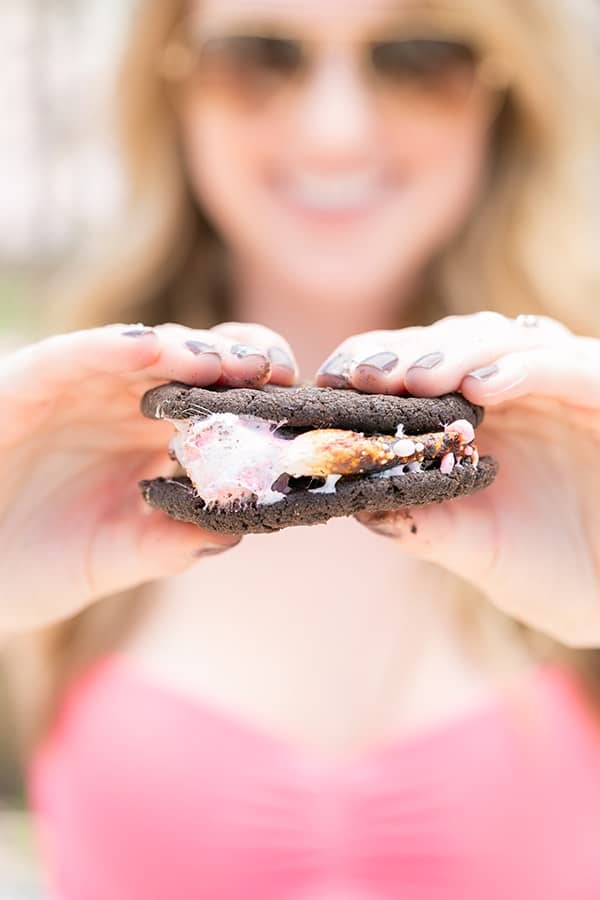
M171 580L124 650L156 683L345 756L492 692L447 592L438 571L338 520L247 537Z

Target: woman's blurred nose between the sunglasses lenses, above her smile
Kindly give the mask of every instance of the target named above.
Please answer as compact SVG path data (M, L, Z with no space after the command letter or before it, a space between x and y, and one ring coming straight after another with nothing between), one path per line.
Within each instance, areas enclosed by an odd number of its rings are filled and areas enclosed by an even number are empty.
M316 63L305 85L298 125L305 149L323 162L356 157L372 146L373 98L357 65L344 53Z

